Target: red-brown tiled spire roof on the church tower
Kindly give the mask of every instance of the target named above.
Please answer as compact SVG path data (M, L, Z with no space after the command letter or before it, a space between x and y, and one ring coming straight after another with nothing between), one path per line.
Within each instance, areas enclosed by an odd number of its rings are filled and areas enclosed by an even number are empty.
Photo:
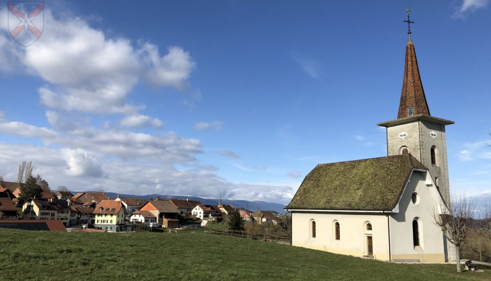
M413 115L430 115L430 109L426 102L425 91L419 77L418 61L414 45L409 39L406 46L406 62L404 64L404 80L402 83L401 103L397 119L409 117L408 108L413 107Z

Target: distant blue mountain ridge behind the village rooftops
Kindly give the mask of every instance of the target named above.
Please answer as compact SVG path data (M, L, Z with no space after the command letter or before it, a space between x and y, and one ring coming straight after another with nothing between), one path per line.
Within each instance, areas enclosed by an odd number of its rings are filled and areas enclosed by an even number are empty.
M179 196L179 195L162 195L162 194L149 194L149 195L131 195L131 194L120 194L114 192L105 192L111 199L116 198L118 195L120 197L137 197L143 200L155 199L160 196L161 199L189 199L194 201L199 201L202 204L207 205L218 205L219 199L205 199L195 196ZM276 211L278 213L286 213L283 209L286 205L278 203L269 203L264 201L247 201L247 200L229 200L222 199L222 204L232 205L236 208L246 208L250 210L257 210L259 207L262 211Z

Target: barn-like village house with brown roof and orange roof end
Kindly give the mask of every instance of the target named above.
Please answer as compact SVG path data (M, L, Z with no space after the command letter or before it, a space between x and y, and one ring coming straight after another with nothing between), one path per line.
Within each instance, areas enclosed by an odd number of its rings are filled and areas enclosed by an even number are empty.
M156 218L157 223L164 228L176 228L181 211L168 200L153 200L138 208L138 211L150 211Z

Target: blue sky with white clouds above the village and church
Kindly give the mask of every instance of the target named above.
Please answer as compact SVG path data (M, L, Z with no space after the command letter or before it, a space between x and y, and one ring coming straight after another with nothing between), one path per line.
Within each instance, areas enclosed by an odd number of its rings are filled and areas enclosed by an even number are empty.
M412 40L453 193L491 192L489 0L0 5L0 175L55 188L288 203L318 163L386 155Z

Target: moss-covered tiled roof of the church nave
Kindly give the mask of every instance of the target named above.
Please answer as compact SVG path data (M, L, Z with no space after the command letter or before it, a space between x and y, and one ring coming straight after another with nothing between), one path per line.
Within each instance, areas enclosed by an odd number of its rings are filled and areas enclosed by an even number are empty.
M391 210L412 169L428 170L410 154L319 164L286 209Z

